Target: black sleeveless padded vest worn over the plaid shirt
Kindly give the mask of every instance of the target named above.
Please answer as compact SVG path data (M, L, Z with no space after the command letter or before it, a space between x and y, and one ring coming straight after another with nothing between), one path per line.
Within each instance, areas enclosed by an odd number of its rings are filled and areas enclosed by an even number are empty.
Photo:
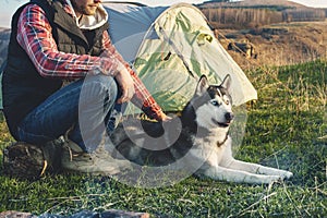
M16 40L20 14L31 3L38 4L46 12L59 51L99 56L102 50L102 34L109 27L106 23L97 29L83 33L75 20L63 10L61 0L32 0L15 12L12 17L8 63L2 77L3 112L15 140L19 140L16 128L23 118L62 86L59 78L40 76Z

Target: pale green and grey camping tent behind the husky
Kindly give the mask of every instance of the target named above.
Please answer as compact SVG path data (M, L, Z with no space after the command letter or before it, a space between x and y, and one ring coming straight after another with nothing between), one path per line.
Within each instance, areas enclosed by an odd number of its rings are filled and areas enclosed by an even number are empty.
M235 106L257 99L244 72L215 38L206 17L195 7L186 3L170 8L113 3L105 7L111 17L109 34L113 44L165 111L180 111L193 96L202 74L213 84L219 84L230 74ZM133 113L137 109L129 106L128 111Z

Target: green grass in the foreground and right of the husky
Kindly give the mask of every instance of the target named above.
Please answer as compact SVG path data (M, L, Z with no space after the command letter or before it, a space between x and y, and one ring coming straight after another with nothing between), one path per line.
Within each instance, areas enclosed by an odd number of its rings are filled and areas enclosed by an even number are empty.
M58 174L28 182L0 172L0 211L70 215L110 208L154 217L324 217L327 214L327 63L315 61L247 72L259 99L249 108L237 158L288 169L291 181L234 184L187 178L137 189L108 178ZM0 118L0 148L10 137ZM0 154L2 156L2 154Z

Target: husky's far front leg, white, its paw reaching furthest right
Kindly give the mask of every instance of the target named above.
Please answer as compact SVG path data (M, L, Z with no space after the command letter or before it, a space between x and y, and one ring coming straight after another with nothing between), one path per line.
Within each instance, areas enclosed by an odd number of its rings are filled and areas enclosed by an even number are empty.
M281 179L290 179L291 177L293 177L292 172L289 172L286 170L279 170L276 168L265 167L265 166L252 164L252 162L244 162L241 160L235 160L233 158L230 159L229 161L222 161L220 165L226 168L229 168L229 169L246 171L250 173L278 175Z

